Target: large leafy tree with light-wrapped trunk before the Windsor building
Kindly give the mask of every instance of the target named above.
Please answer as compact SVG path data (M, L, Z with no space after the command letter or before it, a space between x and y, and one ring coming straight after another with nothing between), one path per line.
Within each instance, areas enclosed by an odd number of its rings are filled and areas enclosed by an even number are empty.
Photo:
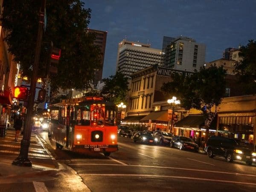
M173 75L172 81L164 83L161 90L169 96L177 96L181 107L203 111L208 132L209 125L217 113L217 106L225 96L225 75L223 66L201 67L199 71L195 70L192 76ZM213 106L214 112L211 111Z

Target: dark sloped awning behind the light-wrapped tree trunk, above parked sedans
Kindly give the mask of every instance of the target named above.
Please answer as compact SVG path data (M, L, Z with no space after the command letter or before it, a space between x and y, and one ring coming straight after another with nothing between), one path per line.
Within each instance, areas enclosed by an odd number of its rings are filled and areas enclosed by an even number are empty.
M204 126L204 115L189 115L175 123L176 128L201 128Z

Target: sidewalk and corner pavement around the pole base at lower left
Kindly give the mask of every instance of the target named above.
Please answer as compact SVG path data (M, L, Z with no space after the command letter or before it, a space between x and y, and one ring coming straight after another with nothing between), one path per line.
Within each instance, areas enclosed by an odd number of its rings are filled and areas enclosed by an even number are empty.
M73 169L52 157L36 134L31 134L28 154L32 167L12 165L19 155L22 137L14 141L14 128L0 137L0 192L90 191Z

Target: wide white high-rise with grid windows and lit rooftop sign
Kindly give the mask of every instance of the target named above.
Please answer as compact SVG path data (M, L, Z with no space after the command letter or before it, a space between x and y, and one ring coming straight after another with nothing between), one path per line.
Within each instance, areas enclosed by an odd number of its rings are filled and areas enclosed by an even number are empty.
M162 50L150 44L123 40L118 44L116 71L131 78L131 74L154 64L162 64Z

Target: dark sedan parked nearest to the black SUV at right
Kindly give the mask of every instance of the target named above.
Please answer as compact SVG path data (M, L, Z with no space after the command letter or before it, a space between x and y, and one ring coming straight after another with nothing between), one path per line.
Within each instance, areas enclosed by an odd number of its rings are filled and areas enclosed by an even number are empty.
M177 147L180 150L188 149L198 152L199 147L191 138L184 136L175 136L171 140L170 147Z

